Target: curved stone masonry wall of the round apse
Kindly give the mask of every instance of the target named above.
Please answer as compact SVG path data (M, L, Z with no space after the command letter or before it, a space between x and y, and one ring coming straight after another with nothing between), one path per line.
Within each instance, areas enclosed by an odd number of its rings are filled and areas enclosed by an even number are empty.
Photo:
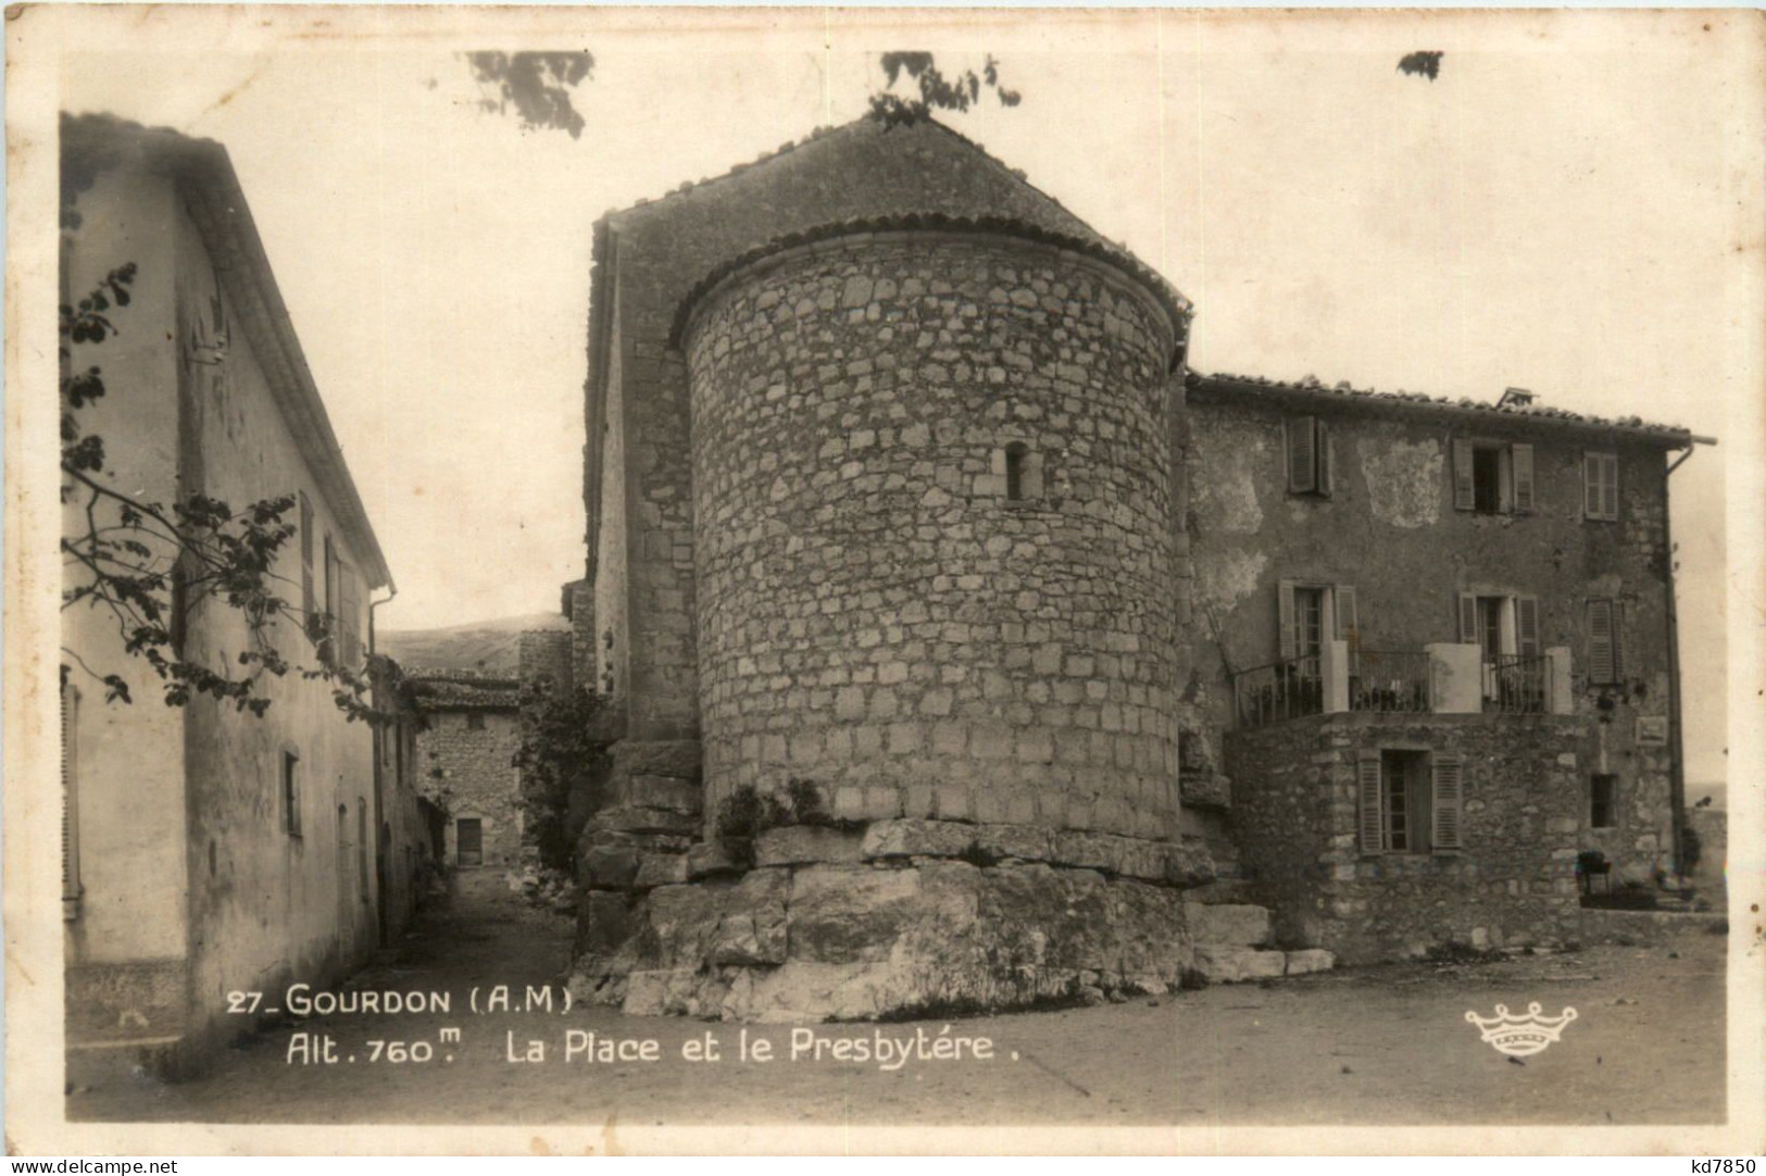
M837 238L708 295L712 805L811 777L844 818L1171 837L1171 348L1113 267L1000 235Z

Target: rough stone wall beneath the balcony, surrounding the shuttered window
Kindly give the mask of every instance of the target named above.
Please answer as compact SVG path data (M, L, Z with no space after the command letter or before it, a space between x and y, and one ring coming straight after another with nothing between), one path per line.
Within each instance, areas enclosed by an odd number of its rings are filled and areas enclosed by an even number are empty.
M1229 733L1233 825L1277 936L1344 962L1575 938L1589 726L1347 713ZM1356 752L1367 749L1464 756L1462 851L1362 855Z

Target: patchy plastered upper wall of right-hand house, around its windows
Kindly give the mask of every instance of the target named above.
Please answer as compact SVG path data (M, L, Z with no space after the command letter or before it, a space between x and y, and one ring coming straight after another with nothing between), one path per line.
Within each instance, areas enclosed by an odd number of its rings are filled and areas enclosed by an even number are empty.
M1540 602L1540 648L1570 650L1575 713L1596 740L1582 749L1584 796L1593 773L1619 777L1612 828L1586 828L1632 879L1667 865L1669 777L1664 743L1637 738L1639 719L1667 720L1667 500L1658 449L1566 433L1522 415L1446 417L1355 397L1282 399L1266 385L1192 381L1189 396L1189 539L1194 544L1197 623L1185 697L1199 724L1231 726L1227 666L1275 660L1277 583L1351 584L1363 650L1420 652L1459 641L1457 599L1531 595ZM1289 494L1282 427L1314 413L1330 424L1332 494ZM1452 440L1533 445L1535 498L1528 514L1453 509ZM1619 521L1582 517L1582 452L1619 456ZM1588 600L1623 606L1625 682L1589 682ZM1492 717L1494 722L1494 717ZM1508 729L1508 720L1498 724Z

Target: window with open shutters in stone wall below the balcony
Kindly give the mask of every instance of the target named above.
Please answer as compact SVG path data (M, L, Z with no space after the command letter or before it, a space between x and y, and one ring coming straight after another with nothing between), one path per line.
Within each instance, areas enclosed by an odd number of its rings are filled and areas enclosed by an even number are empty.
M1356 756L1363 855L1455 853L1460 848L1464 761L1409 749Z

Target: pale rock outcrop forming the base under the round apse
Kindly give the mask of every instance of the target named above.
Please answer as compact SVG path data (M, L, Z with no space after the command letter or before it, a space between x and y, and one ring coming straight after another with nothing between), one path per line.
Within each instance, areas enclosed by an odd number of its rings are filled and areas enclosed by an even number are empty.
M570 991L634 1015L872 1019L1166 992L1192 966L1173 886L922 856L590 892Z

